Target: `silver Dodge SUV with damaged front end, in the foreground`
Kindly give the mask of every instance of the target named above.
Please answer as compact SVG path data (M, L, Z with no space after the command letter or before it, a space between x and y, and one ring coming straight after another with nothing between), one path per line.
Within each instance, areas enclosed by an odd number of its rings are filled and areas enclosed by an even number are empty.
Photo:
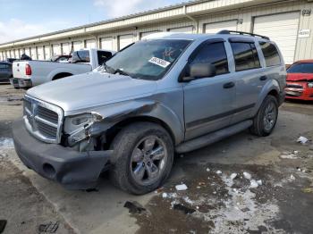
M117 187L145 194L165 182L174 152L246 129L268 136L283 57L268 38L241 34L156 34L96 71L29 89L13 124L17 154L67 188L94 188L109 170Z

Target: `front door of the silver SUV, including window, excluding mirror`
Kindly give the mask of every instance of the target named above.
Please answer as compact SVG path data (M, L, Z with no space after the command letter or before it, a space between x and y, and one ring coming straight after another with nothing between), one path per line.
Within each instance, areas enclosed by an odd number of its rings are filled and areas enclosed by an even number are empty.
M227 86L233 78L224 40L207 41L197 51L189 63L211 63L216 76L194 79L183 87L186 140L228 126L235 108L235 87Z

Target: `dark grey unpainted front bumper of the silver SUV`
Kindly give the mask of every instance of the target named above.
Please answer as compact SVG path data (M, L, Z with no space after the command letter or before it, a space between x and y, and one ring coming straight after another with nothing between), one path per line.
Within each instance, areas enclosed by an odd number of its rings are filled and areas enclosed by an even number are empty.
M13 123L13 140L16 153L27 167L70 189L94 188L113 154L109 150L78 152L41 142L30 135L22 120Z

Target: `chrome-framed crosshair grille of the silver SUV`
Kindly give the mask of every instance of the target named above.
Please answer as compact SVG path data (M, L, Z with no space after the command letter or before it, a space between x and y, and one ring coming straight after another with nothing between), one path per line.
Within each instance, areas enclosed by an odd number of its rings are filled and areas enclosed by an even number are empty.
M26 128L33 136L47 143L60 143L63 122L60 107L25 96L23 113Z

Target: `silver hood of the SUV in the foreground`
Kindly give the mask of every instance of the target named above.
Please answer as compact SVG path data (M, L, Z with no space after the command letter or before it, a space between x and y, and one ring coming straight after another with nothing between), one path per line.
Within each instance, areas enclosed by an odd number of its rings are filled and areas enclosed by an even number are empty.
M156 81L89 72L30 88L27 95L58 105L64 112L72 112L148 96L156 90Z

